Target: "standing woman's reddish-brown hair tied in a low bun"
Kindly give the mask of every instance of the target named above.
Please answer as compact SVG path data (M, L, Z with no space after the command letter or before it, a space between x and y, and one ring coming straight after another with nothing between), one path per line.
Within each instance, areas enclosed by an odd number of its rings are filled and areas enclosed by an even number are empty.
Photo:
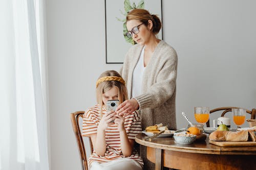
M137 19L143 22L146 26L148 25L148 20L152 20L153 29L152 32L156 35L159 33L162 23L157 15L152 15L145 9L134 9L130 11L126 16L126 22L132 19Z

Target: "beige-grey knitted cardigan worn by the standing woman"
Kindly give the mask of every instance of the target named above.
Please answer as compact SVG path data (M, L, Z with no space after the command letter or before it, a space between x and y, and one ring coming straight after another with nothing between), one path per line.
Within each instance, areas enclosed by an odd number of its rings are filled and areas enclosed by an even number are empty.
M127 52L120 74L126 82L129 98L132 93L133 70L139 60L141 45ZM175 96L177 54L173 47L160 41L147 64L142 78L142 94L133 96L139 103L142 128L162 123L176 129Z

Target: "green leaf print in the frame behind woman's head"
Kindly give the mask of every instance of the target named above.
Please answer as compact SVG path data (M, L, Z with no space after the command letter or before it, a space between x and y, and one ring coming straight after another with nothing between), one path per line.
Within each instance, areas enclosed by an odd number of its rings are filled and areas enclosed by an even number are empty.
M124 3L123 3L123 4L124 4L124 12L121 11L121 10L119 10L119 11L120 11L120 13L121 13L122 15L124 15L124 19L120 19L120 18L117 18L117 17L116 17L116 19L117 19L118 21L123 22L123 37L124 37L125 41L134 45L134 44L136 44L136 42L133 40L133 38L129 38L129 37L126 36L126 33L127 33L127 28L126 28L126 16L127 16L127 14L128 14L130 11L132 11L132 10L134 10L134 9L138 9L138 8L144 9L144 0L141 0L141 1L138 3L137 6L136 6L135 2L133 2L133 4L131 5L130 0L124 0Z

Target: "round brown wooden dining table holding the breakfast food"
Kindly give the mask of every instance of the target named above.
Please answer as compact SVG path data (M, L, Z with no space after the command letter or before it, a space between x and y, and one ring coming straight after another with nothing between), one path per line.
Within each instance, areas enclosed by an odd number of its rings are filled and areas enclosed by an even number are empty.
M143 140L147 137L139 134L135 141L147 147L147 159L155 169L256 169L256 146L219 147L210 144L208 137L193 144L179 144L172 137Z

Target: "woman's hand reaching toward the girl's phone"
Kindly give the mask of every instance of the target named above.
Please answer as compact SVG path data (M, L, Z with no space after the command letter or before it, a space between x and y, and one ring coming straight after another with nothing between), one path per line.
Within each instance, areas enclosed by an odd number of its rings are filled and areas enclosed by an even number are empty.
M126 100L121 105L117 107L118 115L128 115L132 114L135 110L139 108L139 103L135 99Z

